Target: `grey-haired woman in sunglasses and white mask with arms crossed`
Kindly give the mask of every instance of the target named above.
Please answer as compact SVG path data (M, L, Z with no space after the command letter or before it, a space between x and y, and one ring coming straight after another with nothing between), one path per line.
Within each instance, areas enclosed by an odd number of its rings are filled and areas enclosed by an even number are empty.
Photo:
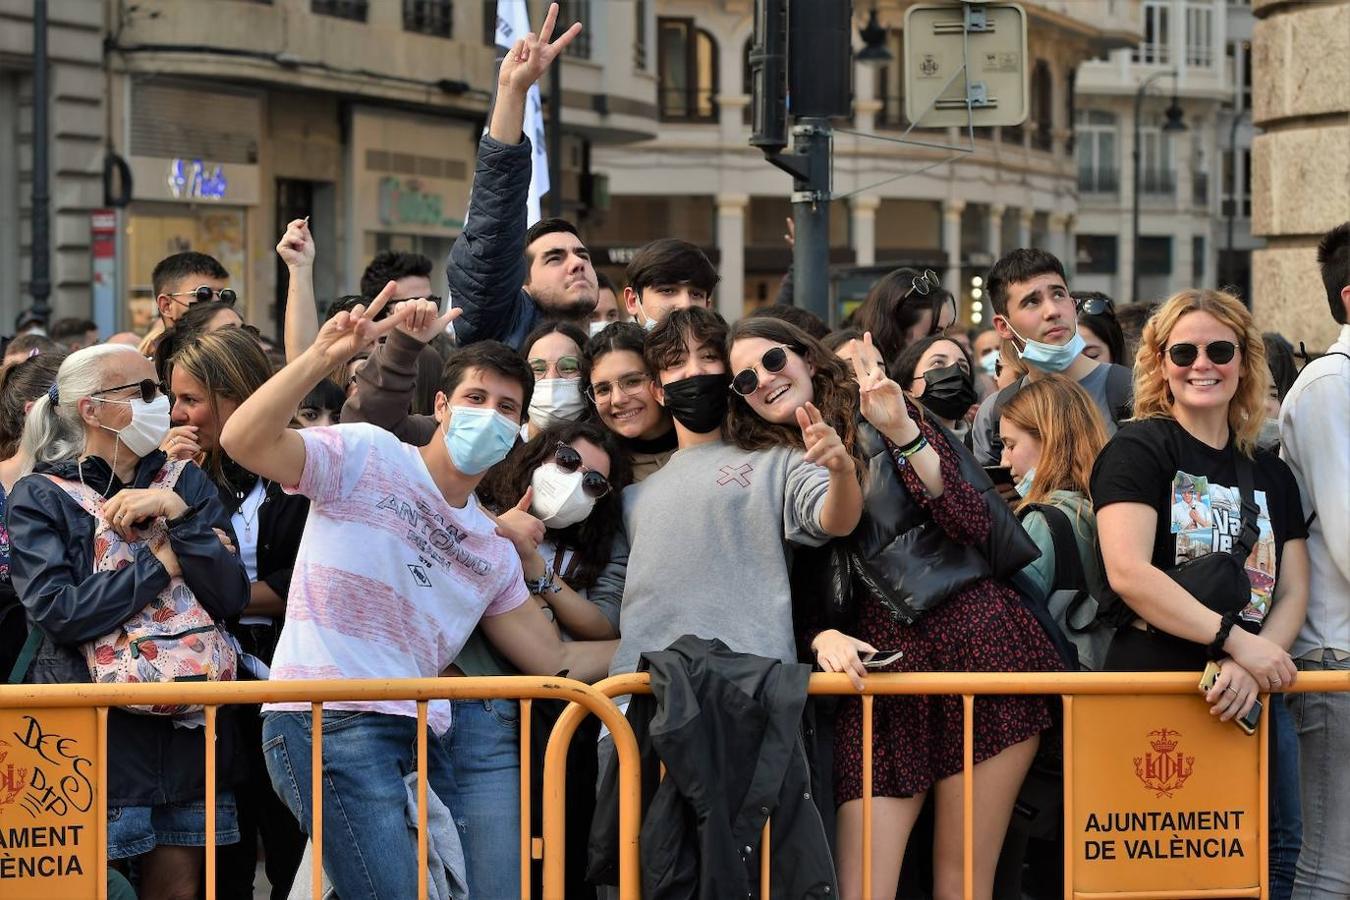
M14 584L40 638L26 681L92 680L96 664L107 663L104 638L126 638L130 622L146 627L140 613L151 604L193 606L217 623L247 604L243 564L220 537L230 517L200 468L169 463L158 449L167 430L169 401L154 366L120 344L68 356L32 405L23 445L34 474L15 484L8 515ZM151 641L157 658L185 649L170 637ZM228 667L215 676L230 677ZM142 897L197 893L207 797L201 731L192 725L176 715L108 714L108 857L139 857ZM220 737L228 743L228 730ZM219 754L227 760L228 748ZM120 764L128 760L135 765ZM230 785L231 775L221 765L219 784ZM216 828L217 843L239 839L224 789Z

